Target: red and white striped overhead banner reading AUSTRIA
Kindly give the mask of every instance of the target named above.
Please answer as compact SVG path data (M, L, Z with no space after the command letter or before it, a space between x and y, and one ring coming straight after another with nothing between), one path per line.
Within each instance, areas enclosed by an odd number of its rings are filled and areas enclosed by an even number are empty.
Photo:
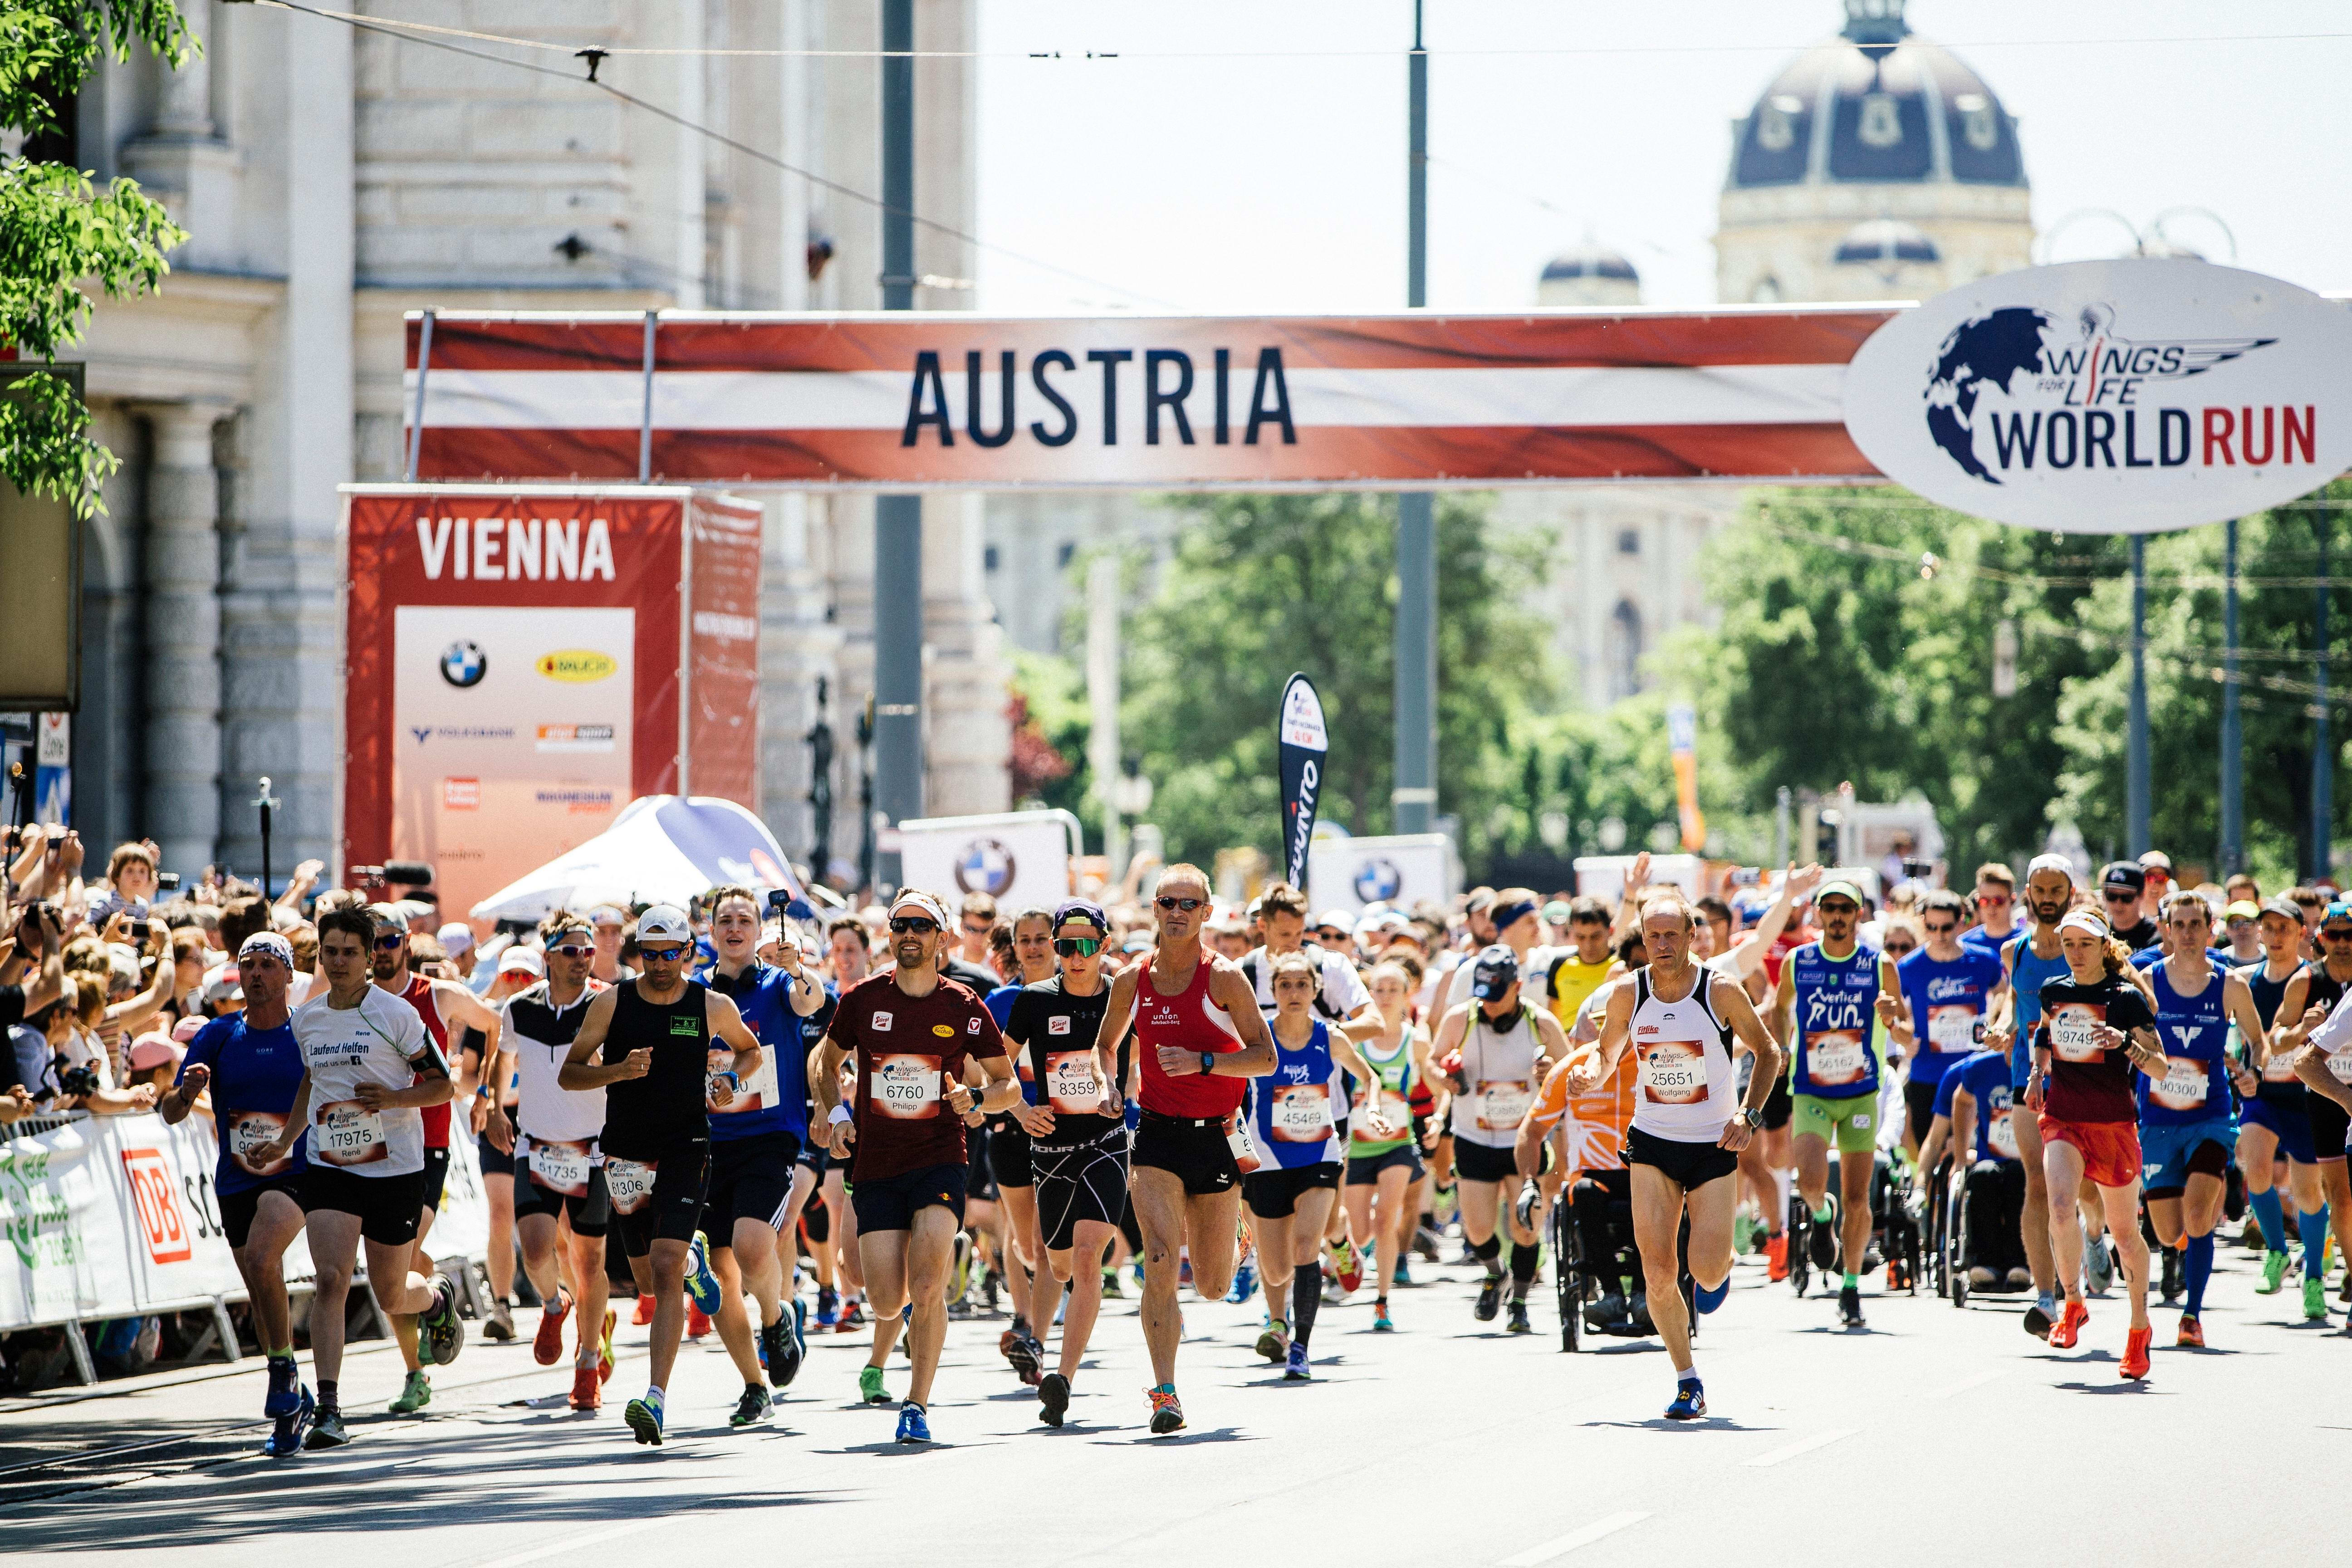
M409 317L419 480L1439 487L1856 480L1884 308ZM423 362L421 362L423 360Z

